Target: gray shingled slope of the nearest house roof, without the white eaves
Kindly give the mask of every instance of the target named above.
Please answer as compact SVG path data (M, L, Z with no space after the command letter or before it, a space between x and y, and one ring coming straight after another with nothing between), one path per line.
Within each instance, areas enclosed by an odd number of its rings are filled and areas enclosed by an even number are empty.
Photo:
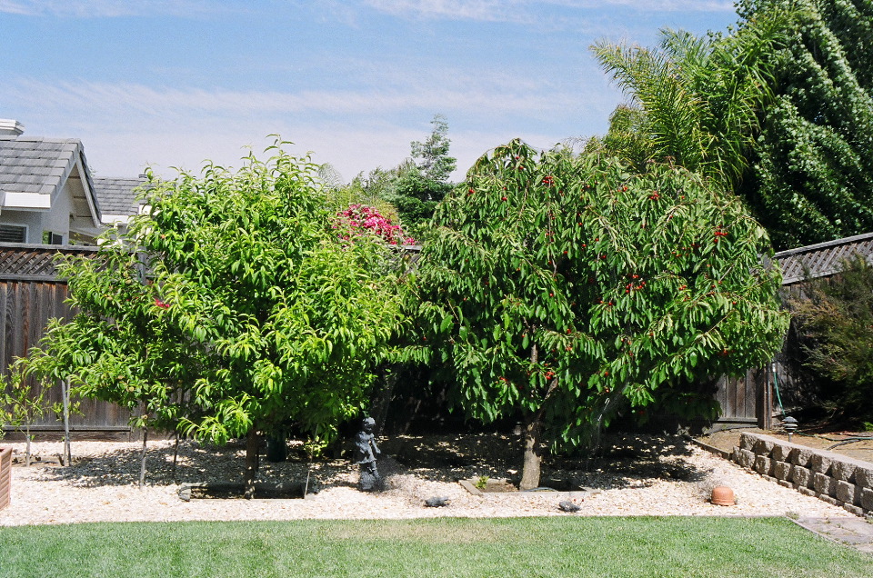
M81 154L77 139L0 136L0 190L54 194Z

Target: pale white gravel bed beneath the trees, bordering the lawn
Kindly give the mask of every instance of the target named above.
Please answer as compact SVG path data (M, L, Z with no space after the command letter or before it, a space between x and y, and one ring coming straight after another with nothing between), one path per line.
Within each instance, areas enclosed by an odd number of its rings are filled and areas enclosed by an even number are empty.
M490 443L506 443L491 438ZM420 438L409 438L415 447ZM474 445L479 443L474 441ZM653 443L658 443L653 442ZM663 443L661 441L660 443ZM467 493L457 479L500 475L483 462L471 461L443 468L402 466L389 460L382 466L389 473L389 488L382 493L361 493L357 473L346 460L313 463L310 483L320 492L306 500L288 499L193 499L179 498L181 483L241 482L244 450L241 446L214 448L183 442L174 481L173 443L149 443L146 486L136 485L142 443L74 442L74 464L16 466L12 470L12 501L0 510L0 525L83 522L170 522L183 520L295 520L315 518L396 519L431 517L516 517L548 515L802 515L853 517L837 506L805 496L754 473L740 469L711 453L684 442L673 442L678 452L649 452L648 457L601 463L600 470L576 470L577 482L597 490L578 499L578 513L563 513L561 499L548 493ZM24 457L24 443L0 442ZM451 445L449 442L437 446ZM400 447L404 447L403 444ZM651 448L649 448L651 449ZM40 462L56 460L62 444L34 443ZM388 453L388 452L386 452ZM400 459L400 456L398 456ZM408 462L408 460L402 460ZM628 463L645 463L637 467ZM494 459L492 463L499 463ZM508 470L508 468L507 468ZM258 481L306 479L305 462L268 463L262 460ZM515 471L504 472L511 475ZM715 485L734 490L735 506L707 502ZM449 505L424 506L431 496L447 497Z

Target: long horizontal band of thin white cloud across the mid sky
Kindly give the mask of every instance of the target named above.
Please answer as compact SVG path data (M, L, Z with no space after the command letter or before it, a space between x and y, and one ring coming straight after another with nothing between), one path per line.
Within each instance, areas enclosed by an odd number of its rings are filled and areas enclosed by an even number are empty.
M508 77L500 79L495 76L490 82L483 77L479 82L467 85L456 82L454 85L398 85L360 90L257 92L85 81L45 83L22 79L0 87L0 95L5 95L6 101L30 103L35 108L79 110L91 116L136 114L164 118L297 113L372 115L414 109L456 110L470 114L487 111L490 115L547 115L578 105L577 94L548 91L544 82L518 85L510 81Z

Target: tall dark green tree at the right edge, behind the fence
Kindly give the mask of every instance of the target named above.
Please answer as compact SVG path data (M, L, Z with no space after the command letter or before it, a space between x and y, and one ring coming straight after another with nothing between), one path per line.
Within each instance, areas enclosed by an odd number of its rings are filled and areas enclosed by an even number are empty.
M774 98L739 193L778 249L873 231L873 2L743 0L742 22L791 10L769 55Z

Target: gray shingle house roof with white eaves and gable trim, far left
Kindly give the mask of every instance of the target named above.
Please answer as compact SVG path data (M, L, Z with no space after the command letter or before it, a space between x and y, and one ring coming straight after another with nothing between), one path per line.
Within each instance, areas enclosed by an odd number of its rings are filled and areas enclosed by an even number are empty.
M75 216L99 223L94 184L77 139L0 135L0 206L49 209L70 178L81 180L84 198L74 200Z

